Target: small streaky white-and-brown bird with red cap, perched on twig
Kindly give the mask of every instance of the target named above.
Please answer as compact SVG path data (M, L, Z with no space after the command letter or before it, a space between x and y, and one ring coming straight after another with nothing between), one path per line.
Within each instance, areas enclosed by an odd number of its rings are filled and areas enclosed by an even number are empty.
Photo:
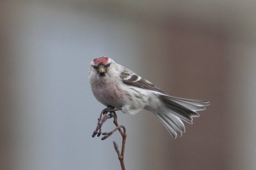
M169 96L150 81L141 78L109 57L97 57L90 63L89 80L95 98L105 106L134 115L148 110L163 123L173 138L182 136L192 124L197 111L205 110L209 101Z

